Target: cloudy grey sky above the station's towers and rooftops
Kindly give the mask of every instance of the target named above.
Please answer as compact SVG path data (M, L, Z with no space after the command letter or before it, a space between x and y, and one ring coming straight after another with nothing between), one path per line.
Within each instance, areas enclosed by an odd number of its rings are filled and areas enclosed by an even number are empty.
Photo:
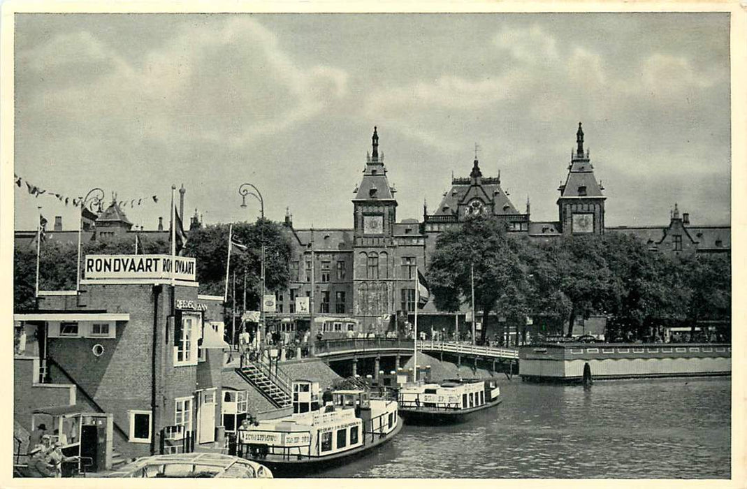
M93 187L155 229L172 184L206 224L352 228L377 126L397 219L479 147L533 221L557 220L578 122L606 224L731 217L727 13L16 14L16 229ZM152 196L158 196L158 203ZM135 200L134 208L131 201ZM140 205L137 200L143 199Z

